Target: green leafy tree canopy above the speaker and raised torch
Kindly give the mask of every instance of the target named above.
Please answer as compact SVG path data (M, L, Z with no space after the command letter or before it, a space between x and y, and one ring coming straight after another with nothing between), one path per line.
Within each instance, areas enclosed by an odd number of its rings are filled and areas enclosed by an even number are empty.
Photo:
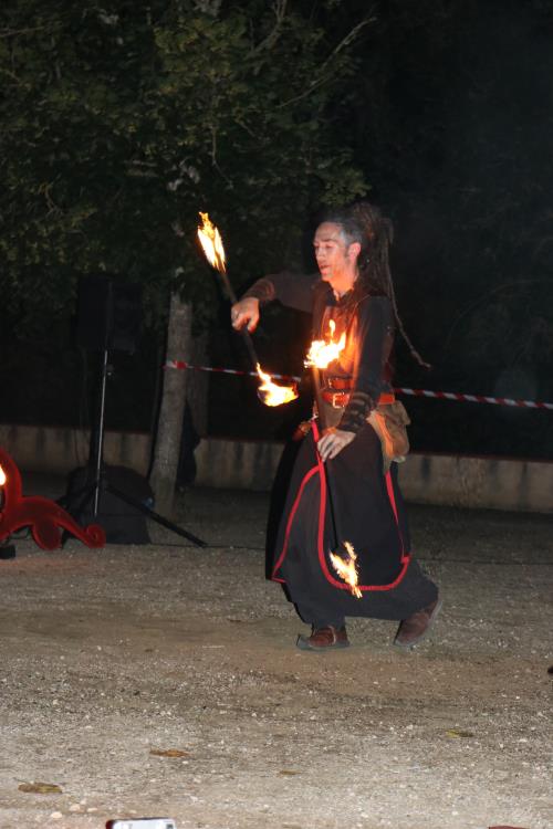
M198 210L215 216L240 274L293 254L312 207L365 192L327 118L371 21L344 28L337 6L3 4L0 251L23 325L44 307L62 313L77 274L93 271L142 281L158 323L178 295L205 325L213 285L195 244ZM178 382L181 406L184 372ZM175 464L166 453L156 470L167 493Z

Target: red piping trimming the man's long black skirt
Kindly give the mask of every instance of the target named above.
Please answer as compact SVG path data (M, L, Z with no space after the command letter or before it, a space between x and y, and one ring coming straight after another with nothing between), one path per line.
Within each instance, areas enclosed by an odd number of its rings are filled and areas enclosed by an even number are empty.
M312 423L312 428L313 428L313 439L315 441L315 451L316 451L316 443L319 441L319 429L317 429L316 423L314 421ZM305 474L303 481L300 484L300 487L298 490L298 495L295 496L294 503L293 503L292 508L290 511L290 515L289 515L288 523L286 523L286 532L285 532L285 535L284 535L284 545L282 547L282 553L280 554L279 559L278 559L276 564L274 565L273 574L272 574L272 579L273 579L273 581L281 581L281 583L285 581L285 579L283 579L283 578L278 578L275 576L275 573L280 569L280 567L282 566L282 563L283 563L283 560L284 560L284 558L286 556L288 544L289 544L289 541L290 541L290 532L292 529L292 523L294 521L295 513L298 511L298 506L300 504L300 501L301 501L301 497L302 497L302 494L303 494L303 490L304 490L306 483L313 478L313 475L315 473L319 473L319 478L320 478L320 482L321 482L321 496L320 496L320 506L319 506L319 527L317 527L319 563L321 565L321 569L323 570L323 574L324 574L326 580L330 581L333 587L337 587L340 590L349 590L349 585L346 585L344 581L338 581L337 579L335 579L334 576L332 575L332 573L328 570L328 566L326 564L326 558L325 558L325 555L324 555L324 520L325 520L325 513L326 513L326 475L325 475L325 470L324 470L323 461L322 461L321 455L319 454L319 452L316 453L316 459L317 459L316 466L312 466L312 469L310 469L310 471ZM401 537L401 533L399 532L399 517L398 517L398 513L397 513L396 499L395 499L395 495L394 495L394 484L393 484L393 481L392 481L392 473L390 473L389 470L388 470L388 472L386 472L385 480L386 480L386 491L388 493L389 503L390 503L392 511L394 513L394 518L396 521L396 525L397 525L397 529L398 529L399 543L401 545L401 558L400 558L401 569L399 570L399 574L394 579L394 581L390 581L387 585L358 585L358 588L362 591L365 591L365 590L393 590L394 587L398 586L398 584L401 581L401 579L404 578L405 574L407 573L407 568L409 566L409 562L410 562L410 558L411 558L410 555L405 552L404 539Z

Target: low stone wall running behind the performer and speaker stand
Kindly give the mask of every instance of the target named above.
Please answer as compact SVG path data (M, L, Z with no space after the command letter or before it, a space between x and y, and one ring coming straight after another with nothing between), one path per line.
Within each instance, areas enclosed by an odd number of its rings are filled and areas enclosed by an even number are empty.
M66 474L88 458L87 432L0 426L0 444L22 470ZM196 484L269 491L283 444L210 438L196 449ZM145 474L149 438L106 432L104 460ZM408 501L492 510L553 512L553 462L413 453L400 481Z

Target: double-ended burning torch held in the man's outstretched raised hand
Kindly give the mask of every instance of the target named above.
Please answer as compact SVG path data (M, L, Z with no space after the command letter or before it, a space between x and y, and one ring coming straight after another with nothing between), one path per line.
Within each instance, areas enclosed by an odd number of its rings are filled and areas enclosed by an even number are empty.
M202 223L198 225L198 239L204 249L204 253L206 254L209 264L219 272L229 298L231 303L234 304L238 300L227 274L227 261L221 234L219 233L219 229L210 221L208 213L200 212L200 218ZM291 400L295 400L298 397L298 387L295 384L292 386L278 386L273 382L271 375L261 370L258 355L255 354L249 332L242 329L240 334L244 338L250 359L262 381L262 385L258 390L258 397L261 402L265 406L282 406L282 403L289 403Z

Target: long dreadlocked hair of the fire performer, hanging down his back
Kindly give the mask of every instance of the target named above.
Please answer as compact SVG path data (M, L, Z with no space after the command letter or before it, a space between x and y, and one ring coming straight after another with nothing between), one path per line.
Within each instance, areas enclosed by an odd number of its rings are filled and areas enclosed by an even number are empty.
M425 363L409 339L397 309L396 293L389 270L389 246L394 241L392 221L383 216L379 208L368 201L358 201L349 208L335 210L325 217L325 221L342 227L342 232L348 245L353 242L361 244L361 253L357 260L359 269L358 287L371 294L384 294L388 297L394 308L397 327L411 357L419 366L431 368L429 363Z

